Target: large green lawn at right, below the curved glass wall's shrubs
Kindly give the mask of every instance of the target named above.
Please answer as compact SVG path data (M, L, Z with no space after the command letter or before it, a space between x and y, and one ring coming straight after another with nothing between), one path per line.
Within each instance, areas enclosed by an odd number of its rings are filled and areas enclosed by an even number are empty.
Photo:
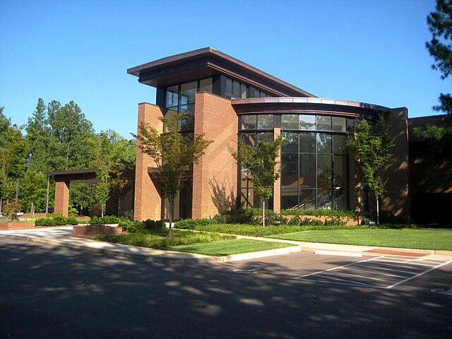
M325 242L406 249L439 249L452 251L451 229L368 229L293 232L271 236L300 242Z

